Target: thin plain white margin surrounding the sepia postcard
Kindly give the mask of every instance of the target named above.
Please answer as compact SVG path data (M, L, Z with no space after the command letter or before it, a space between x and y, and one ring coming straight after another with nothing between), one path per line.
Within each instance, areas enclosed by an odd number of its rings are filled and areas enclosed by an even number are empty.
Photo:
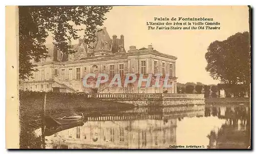
M216 1L136 1L136 0L130 0L130 1L113 1L113 0L109 0L109 1L52 1L52 0L44 0L44 1L13 1L13 0L9 0L9 1L1 1L1 21L4 24L0 24L1 26L1 30L2 30L2 37L1 37L1 47L2 47L2 52L0 52L0 67L1 70L5 70L5 6L6 5L251 5L252 7L255 6L253 5L255 3L255 1L248 1L248 0L243 0L243 1L223 1L223 0L216 0ZM2 5L3 4L3 5ZM185 10L184 10L185 11ZM255 10L254 10L255 11ZM255 15L252 16L253 20L255 20ZM254 24L255 25L255 24ZM253 26L254 28L254 26ZM252 28L252 29L253 29ZM254 32L254 31L253 31ZM255 39L253 39L253 42L255 43ZM253 52L252 52L253 53ZM255 59L255 54L253 56L253 59ZM253 66L255 67L255 65ZM254 79L254 78L253 78ZM3 123L5 123L5 75L1 75L0 76L0 81L2 81L2 86L0 89L0 95L1 95L1 153L7 153L8 151L5 149L5 126L3 125ZM254 84L253 84L254 85ZM253 86L254 87L254 86ZM255 91L253 91L255 93ZM254 94L253 93L253 94ZM253 95L252 94L252 95ZM253 103L253 102L252 102ZM253 105L255 106L255 105ZM253 111L254 111L253 107ZM253 113L253 112L252 112ZM254 119L254 118L253 118ZM253 120L254 123L255 120ZM255 130L255 129L253 129ZM253 132L255 134L255 132ZM255 148L255 141L253 142L254 145L253 147ZM19 151L20 153L25 153L27 151ZM39 151L32 151L32 153L37 153ZM60 153L65 153L65 151L59 151ZM91 151L77 151L78 153L90 153ZM99 152L99 151L97 151ZM105 152L114 152L114 151L105 151ZM137 152L137 151L122 151L122 152ZM144 151L144 152L158 152L158 151ZM162 151L164 152L164 151ZM165 151L165 152L170 152L170 151ZM172 151L175 152L175 151ZM185 152L185 151L182 151ZM189 151L189 152L198 152L198 151ZM206 152L206 151L203 151ZM219 152L236 152L236 151L213 151L214 153L219 153ZM241 152L238 151L237 152ZM51 151L49 153L54 153L54 151Z

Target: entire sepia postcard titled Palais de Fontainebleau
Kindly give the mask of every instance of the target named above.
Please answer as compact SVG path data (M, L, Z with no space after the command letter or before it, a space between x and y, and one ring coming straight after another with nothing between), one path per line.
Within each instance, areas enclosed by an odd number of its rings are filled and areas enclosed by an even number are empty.
M251 149L250 6L6 16L6 148Z

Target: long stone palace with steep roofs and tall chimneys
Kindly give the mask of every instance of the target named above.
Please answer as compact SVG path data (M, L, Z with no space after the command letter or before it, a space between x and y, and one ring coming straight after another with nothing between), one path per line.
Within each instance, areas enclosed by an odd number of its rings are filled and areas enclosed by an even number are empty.
M33 77L20 81L19 88L24 91L53 91L53 92L84 92L84 93L177 93L176 59L172 55L163 54L152 45L148 48L136 49L131 46L128 51L124 49L124 36L117 38L109 36L106 28L97 32L95 42L87 45L82 39L78 44L72 45L74 54L63 54L53 45L46 45L49 57L35 62L39 71L33 72ZM166 74L171 87L157 87L154 80L150 87L145 83L138 87L138 80L128 86L109 87L109 83L102 83L99 87L84 87L83 77L88 73L104 73L112 79L119 74L124 80L126 74L149 74L156 79L156 74L162 74L160 82L164 81ZM89 78L87 82L95 83L97 78Z

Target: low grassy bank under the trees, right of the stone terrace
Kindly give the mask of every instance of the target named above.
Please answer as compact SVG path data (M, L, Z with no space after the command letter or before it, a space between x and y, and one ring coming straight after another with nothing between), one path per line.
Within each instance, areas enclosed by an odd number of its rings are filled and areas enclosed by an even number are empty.
M206 104L250 104L250 98L206 98Z

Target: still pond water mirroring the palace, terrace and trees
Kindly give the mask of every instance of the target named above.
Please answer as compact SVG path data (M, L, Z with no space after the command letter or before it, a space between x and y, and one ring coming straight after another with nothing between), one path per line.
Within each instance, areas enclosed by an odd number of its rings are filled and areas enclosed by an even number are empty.
M45 138L46 148L248 148L250 107L139 107L87 116Z

